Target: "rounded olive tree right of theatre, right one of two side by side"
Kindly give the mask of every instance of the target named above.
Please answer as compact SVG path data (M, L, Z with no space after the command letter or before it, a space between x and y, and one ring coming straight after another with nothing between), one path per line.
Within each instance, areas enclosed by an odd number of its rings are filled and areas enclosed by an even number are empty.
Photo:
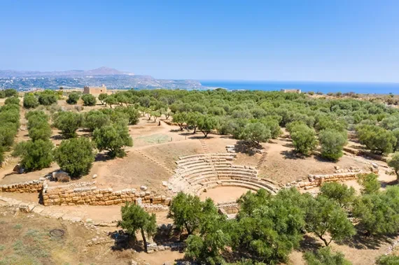
M342 133L335 129L325 129L318 134L318 141L321 145L321 156L337 160L344 155L342 149L346 144L346 131Z

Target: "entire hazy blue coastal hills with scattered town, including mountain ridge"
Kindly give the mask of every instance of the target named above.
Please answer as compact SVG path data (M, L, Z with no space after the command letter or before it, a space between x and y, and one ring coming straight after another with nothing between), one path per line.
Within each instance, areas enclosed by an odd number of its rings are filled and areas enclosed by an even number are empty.
M111 89L207 89L197 80L155 79L152 76L135 76L134 73L108 67L52 72L0 70L0 89L27 91L36 88L83 88L85 85L94 87L102 84Z

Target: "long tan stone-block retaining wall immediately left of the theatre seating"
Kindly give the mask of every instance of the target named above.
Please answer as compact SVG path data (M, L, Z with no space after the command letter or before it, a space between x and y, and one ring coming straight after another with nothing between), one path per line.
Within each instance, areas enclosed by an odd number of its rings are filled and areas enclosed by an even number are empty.
M80 204L109 206L133 202L146 206L146 208L150 210L157 211L165 209L159 206L169 206L170 201L171 198L169 197L155 196L151 192L139 192L136 189L123 189L114 192L111 188L98 189L97 187L78 187L71 189L69 186L47 187L47 185L45 185L43 188L43 204L45 206L73 206Z

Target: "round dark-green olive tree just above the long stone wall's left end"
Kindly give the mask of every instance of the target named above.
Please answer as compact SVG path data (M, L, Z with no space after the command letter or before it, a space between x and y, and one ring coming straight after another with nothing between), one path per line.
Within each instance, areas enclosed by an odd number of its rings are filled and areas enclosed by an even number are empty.
M55 162L72 177L89 173L95 153L89 138L71 138L61 142L54 151Z

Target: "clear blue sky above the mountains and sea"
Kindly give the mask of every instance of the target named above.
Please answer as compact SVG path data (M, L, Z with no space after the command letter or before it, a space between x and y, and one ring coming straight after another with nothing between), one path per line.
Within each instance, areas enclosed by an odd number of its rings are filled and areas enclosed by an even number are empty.
M0 69L399 82L398 0L0 0Z

